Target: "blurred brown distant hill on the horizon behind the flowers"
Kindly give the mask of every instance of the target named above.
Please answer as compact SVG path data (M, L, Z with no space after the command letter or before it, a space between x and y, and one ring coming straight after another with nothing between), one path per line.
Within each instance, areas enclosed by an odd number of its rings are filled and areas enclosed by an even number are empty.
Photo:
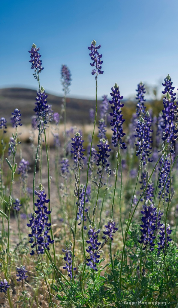
M62 97L48 94L47 102L52 105L53 111L61 113ZM36 91L25 88L0 89L0 118L3 116L10 123L11 112L18 108L25 118L26 124L30 123L34 115ZM100 101L98 101L100 103ZM67 98L67 120L72 123L89 123L89 109L95 109L95 101L90 99Z

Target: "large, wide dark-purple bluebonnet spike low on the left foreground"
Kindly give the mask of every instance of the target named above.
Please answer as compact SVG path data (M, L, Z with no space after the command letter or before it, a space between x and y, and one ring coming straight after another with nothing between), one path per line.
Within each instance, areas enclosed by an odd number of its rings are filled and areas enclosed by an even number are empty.
M48 223L49 217L46 215L49 215L51 212L48 211L45 203L48 203L49 199L46 199L44 187L41 185L40 188L42 190L40 189L39 193L35 190L35 195L39 198L37 199L37 203L35 203L37 210L33 214L31 213L30 223L27 226L32 229L31 234L29 234L29 243L32 244L31 248L35 247L38 254L43 254L44 247L49 250L49 244L53 244L54 240L51 240L50 235L48 235L51 224ZM30 254L33 256L34 250Z

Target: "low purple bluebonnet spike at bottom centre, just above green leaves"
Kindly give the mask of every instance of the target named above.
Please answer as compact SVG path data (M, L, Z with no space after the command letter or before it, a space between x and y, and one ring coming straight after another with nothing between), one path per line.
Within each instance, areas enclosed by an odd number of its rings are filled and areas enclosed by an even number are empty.
M90 266L93 270L97 272L97 263L99 263L100 255L97 253L97 250L101 243L98 243L97 237L100 232L100 229L96 230L96 225L94 222L89 226L89 240L87 240L87 244L90 244L88 246L88 249L86 249L86 252L89 253L89 259L87 259L88 263L86 263L87 266Z

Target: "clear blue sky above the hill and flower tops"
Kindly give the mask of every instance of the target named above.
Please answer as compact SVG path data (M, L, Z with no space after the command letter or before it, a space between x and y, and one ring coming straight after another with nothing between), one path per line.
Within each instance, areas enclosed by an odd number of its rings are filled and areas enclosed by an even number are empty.
M98 95L109 94L115 82L124 97L142 80L156 84L170 74L178 87L178 0L1 0L0 87L36 89L30 50L40 47L41 84L62 93L61 64L72 73L70 96L93 98L88 46L101 44L104 74Z

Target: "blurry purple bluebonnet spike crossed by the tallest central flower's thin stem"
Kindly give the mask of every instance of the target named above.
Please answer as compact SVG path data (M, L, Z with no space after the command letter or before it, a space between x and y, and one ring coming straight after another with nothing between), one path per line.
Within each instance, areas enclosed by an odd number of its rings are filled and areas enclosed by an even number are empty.
M78 198L78 189L76 189L76 193L75 193L76 198ZM81 221L86 221L86 217L83 214L83 207L84 207L84 198L85 198L85 203L88 203L88 194L86 192L86 196L85 196L85 186L83 184L80 185L80 196L79 196L79 203L78 203L78 212L77 212L77 220L80 219L80 222L78 225L81 224ZM76 202L77 204L77 202ZM87 208L85 208L85 213L88 211ZM84 229L86 230L87 227L84 226Z

